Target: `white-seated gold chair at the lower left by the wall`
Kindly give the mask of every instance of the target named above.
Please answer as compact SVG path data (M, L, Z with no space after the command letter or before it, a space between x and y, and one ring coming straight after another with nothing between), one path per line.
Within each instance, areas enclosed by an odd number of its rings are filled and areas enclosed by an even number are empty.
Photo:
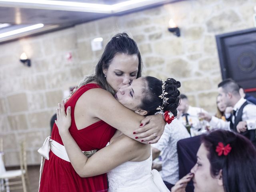
M20 178L21 180L17 180ZM28 180L28 168L27 168L27 157L26 157L26 148L25 142L22 142L20 145L20 169L18 170L9 170L0 174L1 180L8 180L1 187L1 192L10 190L23 189L23 192L29 192L29 180ZM10 182L10 180L15 179L15 181ZM2 190L3 189L3 190Z

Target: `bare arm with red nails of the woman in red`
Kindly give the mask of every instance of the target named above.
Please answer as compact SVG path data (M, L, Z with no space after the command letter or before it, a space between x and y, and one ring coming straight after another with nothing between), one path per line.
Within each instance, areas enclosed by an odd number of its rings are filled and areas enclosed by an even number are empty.
M144 142L156 143L160 139L166 124L161 115L147 117L145 121L149 121L149 124L144 122L146 125L139 128L144 119L143 116L124 107L106 90L92 89L89 91L90 94L84 94L83 100L84 104L90 108L92 117L103 120L132 139L138 137L140 142L144 140ZM139 129L134 131L136 128ZM136 132L136 135L134 135L134 132Z

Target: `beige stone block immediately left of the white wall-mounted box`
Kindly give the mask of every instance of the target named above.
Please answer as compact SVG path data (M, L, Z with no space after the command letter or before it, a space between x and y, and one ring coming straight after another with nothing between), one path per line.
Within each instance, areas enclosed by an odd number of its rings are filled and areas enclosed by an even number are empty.
M89 41L78 42L78 58L80 61L93 59L93 52Z

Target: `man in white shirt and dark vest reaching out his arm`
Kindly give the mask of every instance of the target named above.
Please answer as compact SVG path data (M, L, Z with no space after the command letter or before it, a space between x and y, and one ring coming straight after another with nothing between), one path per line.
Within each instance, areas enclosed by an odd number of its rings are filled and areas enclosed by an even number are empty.
M239 86L232 79L218 84L219 96L226 106L233 107L230 121L224 121L208 114L202 117L209 121L212 128L222 128L238 132L252 141L256 146L256 105L250 104L239 94Z

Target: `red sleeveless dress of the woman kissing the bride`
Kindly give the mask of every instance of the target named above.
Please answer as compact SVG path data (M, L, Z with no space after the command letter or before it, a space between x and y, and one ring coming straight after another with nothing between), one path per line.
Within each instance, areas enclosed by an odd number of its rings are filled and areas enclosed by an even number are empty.
M77 130L74 121L74 108L78 98L87 90L100 88L98 84L86 84L77 90L66 102L65 108L71 106L70 134L82 151L101 149L106 146L116 129L100 120L90 126ZM86 107L86 106L85 106ZM58 128L54 124L52 139L63 145ZM97 162L95 162L97 163ZM45 160L39 192L107 192L106 174L81 178L70 162L62 160L50 151L50 159Z

